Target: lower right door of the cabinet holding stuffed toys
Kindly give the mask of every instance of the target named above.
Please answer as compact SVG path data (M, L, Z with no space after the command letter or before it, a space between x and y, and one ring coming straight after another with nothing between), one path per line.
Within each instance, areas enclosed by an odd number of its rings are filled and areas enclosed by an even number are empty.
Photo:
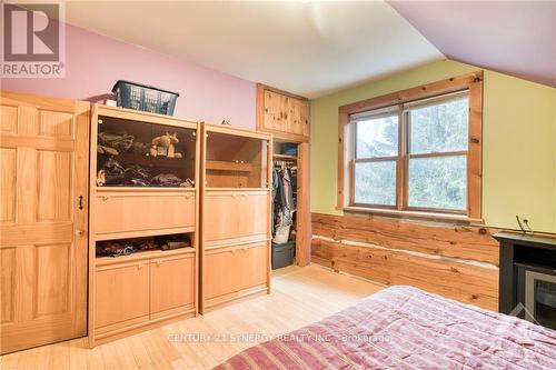
M195 256L160 258L150 263L150 313L192 304Z

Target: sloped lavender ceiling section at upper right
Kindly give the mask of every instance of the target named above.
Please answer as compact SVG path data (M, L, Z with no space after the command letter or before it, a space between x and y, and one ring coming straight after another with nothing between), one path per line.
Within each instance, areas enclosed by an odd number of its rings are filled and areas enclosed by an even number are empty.
M447 58L556 87L556 1L389 1Z

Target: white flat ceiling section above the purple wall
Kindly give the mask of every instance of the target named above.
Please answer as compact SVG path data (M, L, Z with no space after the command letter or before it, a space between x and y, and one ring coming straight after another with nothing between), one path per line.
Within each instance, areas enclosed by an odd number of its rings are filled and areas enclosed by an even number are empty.
M315 98L444 56L383 1L78 1L75 26Z

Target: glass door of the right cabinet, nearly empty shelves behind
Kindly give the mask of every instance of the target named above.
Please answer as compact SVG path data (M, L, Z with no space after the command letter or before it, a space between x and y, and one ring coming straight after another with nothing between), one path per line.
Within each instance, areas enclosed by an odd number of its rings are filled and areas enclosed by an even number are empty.
M267 140L208 132L207 188L266 188Z

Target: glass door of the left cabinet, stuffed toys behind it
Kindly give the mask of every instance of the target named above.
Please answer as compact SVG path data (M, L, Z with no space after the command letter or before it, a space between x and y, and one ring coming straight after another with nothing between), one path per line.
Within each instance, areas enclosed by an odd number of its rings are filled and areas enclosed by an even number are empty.
M99 116L98 187L193 188L196 130Z

